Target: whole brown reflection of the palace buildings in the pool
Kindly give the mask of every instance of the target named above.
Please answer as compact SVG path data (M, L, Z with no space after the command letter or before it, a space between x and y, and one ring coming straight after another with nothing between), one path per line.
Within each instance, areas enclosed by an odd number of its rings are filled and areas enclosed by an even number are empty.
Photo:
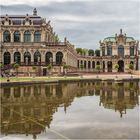
M74 98L99 96L99 105L119 111L138 104L138 82L80 82L70 84L34 85L2 88L2 134L37 134L50 128L58 107L71 105Z

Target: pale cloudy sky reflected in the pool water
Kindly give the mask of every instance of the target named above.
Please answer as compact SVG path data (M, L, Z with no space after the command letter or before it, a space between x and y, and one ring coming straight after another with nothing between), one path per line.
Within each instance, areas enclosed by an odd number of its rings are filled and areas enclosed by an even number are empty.
M100 96L75 97L66 112L64 107L58 107L50 129L46 127L45 132L37 135L37 139L64 139L59 134L69 139L138 139L138 105L126 109L126 114L121 118L118 110L115 112L115 109L104 108L99 103ZM12 134L2 137L2 140L32 138L32 135Z

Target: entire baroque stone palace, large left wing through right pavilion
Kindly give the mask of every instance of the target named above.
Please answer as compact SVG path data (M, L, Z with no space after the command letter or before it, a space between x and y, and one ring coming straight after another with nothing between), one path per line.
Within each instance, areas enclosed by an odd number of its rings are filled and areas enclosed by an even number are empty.
M0 63L4 69L10 69L14 63L20 64L20 72L32 71L32 66L37 66L40 75L46 75L49 64L54 73L62 73L64 64L69 66L69 72L76 72L81 64L87 72L97 64L103 72L115 72L115 64L119 64L119 72L128 72L130 63L138 69L139 42L122 34L122 30L119 35L100 41L99 56L89 56L77 54L67 38L60 42L50 21L38 16L36 8L33 15L3 15L0 26Z

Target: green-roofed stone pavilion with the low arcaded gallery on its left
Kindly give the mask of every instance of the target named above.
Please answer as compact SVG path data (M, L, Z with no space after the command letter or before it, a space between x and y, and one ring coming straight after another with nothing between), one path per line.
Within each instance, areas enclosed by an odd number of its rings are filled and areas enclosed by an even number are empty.
M78 55L78 67L84 65L87 71L93 71L96 65L101 66L103 72L116 72L115 65L119 65L119 72L128 72L128 65L132 63L134 69L138 69L138 45L133 37L127 37L120 30L119 35L107 37L100 41L100 56Z

